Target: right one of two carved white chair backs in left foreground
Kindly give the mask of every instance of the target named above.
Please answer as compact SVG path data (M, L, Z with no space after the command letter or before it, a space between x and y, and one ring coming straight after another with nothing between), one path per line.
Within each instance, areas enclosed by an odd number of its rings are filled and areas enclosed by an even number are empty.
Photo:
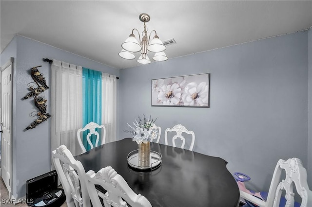
M94 207L101 207L99 197L103 199L105 207L152 207L151 203L142 196L136 194L128 183L111 166L102 168L95 173L90 170L86 173L86 185ZM106 193L96 189L95 185L101 186Z

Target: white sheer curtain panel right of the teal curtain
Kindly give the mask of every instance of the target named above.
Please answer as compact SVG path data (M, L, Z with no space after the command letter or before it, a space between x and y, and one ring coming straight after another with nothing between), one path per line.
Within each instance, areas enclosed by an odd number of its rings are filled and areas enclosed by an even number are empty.
M102 124L106 129L105 142L116 141L116 76L102 73Z

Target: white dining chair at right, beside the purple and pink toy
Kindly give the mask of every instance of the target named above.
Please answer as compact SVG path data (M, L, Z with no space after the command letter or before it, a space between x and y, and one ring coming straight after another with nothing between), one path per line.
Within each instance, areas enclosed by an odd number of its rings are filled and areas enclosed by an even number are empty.
M283 173L283 171L285 171L285 173ZM283 179L281 178L282 173L286 174ZM296 191L293 190L293 187L295 187ZM259 207L279 207L283 191L286 191L285 207L294 206L294 192L297 192L302 199L300 207L312 207L312 191L309 190L307 171L298 158L290 158L286 161L280 159L277 162L267 201L263 201L242 190L240 190L240 196Z

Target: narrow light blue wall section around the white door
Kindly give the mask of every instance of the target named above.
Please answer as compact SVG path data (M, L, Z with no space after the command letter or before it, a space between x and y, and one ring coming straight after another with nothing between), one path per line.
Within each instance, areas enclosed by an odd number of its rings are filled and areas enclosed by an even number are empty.
M13 83L13 91L16 90L16 79L14 78L16 75L16 65L17 65L17 61L16 61L16 56L17 56L17 38L14 37L11 42L8 44L8 46L5 48L5 50L3 52L1 52L0 55L0 64L1 67L6 64L11 57L14 58L14 62L13 62L13 70L12 70L12 83ZM15 93L12 93L12 123L14 123L14 121L17 119L17 114L16 114L16 100L17 100L17 96ZM0 99L1 100L1 99ZM14 125L14 124L13 124ZM14 128L14 126L12 125L11 128L11 134L14 135L16 133L16 129ZM11 146L13 148L13 151L16 150L16 139L13 139L11 142ZM16 180L16 163L17 163L17 156L16 154L12 154L12 179L13 182ZM16 195L16 186L12 186L11 187L11 192L13 195Z

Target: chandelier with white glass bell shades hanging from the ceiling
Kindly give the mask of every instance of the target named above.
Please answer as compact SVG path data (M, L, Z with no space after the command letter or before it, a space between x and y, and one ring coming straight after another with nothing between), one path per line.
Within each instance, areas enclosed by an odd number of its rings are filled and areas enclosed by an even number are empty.
M144 30L141 36L137 29L133 29L129 37L121 44L122 50L118 55L127 60L133 60L136 58L134 52L141 52L141 56L138 58L137 62L143 65L151 63L150 58L147 56L147 52L155 52L153 60L155 61L165 61L168 57L165 54L166 46L161 42L159 37L156 34L156 31L153 30L149 37L147 37L148 28L145 25L145 22L150 20L148 14L140 14L139 19L144 23ZM134 31L137 31L138 40L133 34ZM155 32L155 36L152 41L150 41L151 34Z

